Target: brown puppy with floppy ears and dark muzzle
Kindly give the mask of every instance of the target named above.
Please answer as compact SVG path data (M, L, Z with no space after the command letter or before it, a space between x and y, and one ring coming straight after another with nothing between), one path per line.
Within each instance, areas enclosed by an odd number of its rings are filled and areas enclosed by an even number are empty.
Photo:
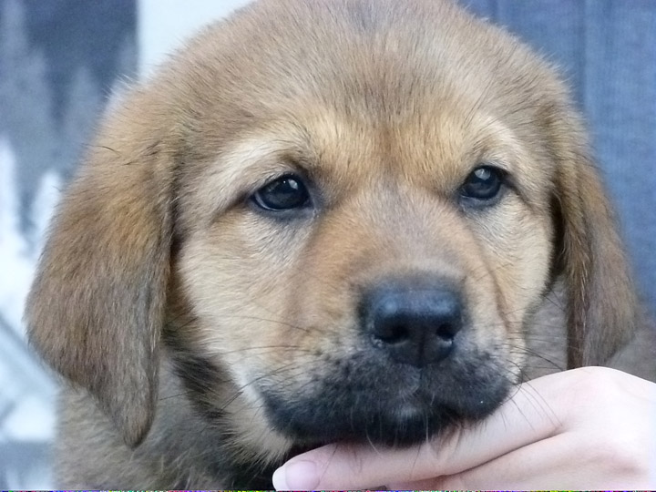
M442 1L274 0L108 115L26 319L74 383L58 486L250 488L476 421L566 349L605 364L636 305L537 56Z

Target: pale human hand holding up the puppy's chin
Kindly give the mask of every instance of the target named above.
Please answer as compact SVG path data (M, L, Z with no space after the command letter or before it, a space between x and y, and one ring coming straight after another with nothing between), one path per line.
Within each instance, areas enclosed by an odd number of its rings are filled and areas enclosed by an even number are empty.
M519 386L495 414L420 446L323 446L277 489L656 489L656 384L603 367Z

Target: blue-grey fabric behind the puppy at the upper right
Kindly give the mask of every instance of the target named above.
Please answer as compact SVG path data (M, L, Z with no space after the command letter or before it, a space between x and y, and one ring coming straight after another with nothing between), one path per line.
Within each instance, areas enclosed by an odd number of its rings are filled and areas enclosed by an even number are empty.
M656 2L462 0L562 68L656 312Z

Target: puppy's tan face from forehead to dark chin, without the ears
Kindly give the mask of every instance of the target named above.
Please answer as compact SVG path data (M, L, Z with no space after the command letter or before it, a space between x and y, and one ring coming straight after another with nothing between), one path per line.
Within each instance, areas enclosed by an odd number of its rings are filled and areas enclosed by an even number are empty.
M251 41L230 99L257 102L230 138L225 97L200 117L207 158L185 163L179 202L184 338L231 374L246 421L413 442L487 415L517 382L548 288L554 166L538 67L455 32L445 46L418 15L384 27L400 13L380 6L361 29L349 8Z

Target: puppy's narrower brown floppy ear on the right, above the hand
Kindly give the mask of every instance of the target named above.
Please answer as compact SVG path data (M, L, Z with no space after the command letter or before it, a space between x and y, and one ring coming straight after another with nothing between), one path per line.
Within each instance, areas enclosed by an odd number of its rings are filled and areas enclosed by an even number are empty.
M569 135L576 135L570 131ZM569 149L556 176L560 271L568 290L568 367L608 361L630 339L637 302L600 177L587 149Z

